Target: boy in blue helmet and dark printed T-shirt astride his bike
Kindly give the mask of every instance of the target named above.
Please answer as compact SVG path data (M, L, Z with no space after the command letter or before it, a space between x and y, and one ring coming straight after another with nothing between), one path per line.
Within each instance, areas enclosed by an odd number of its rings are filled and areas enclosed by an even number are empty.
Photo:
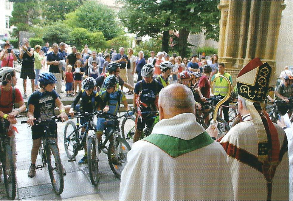
M55 115L55 105L60 110L60 117L63 120L68 120L65 113L63 103L61 102L59 95L55 92L54 87L57 82L56 77L52 73L43 72L40 76L40 88L39 90L32 93L27 104L29 110L27 112L27 123L32 126L32 151L31 151L31 162L30 169L28 171L29 177L35 176L35 161L38 156L38 151L41 146L42 136L45 134L45 128L41 125L34 125L34 120L51 120L52 116ZM57 142L57 123L52 121L50 130L55 134L55 141ZM57 143L58 147L58 143ZM62 166L63 175L66 175L66 171Z

